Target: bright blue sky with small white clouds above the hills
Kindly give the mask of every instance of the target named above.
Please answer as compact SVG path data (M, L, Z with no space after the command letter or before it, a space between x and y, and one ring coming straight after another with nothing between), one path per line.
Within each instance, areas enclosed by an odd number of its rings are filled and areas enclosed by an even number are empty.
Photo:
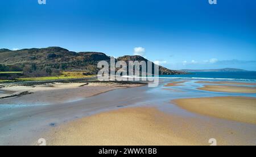
M139 54L171 69L256 70L256 1L1 1L0 48Z

